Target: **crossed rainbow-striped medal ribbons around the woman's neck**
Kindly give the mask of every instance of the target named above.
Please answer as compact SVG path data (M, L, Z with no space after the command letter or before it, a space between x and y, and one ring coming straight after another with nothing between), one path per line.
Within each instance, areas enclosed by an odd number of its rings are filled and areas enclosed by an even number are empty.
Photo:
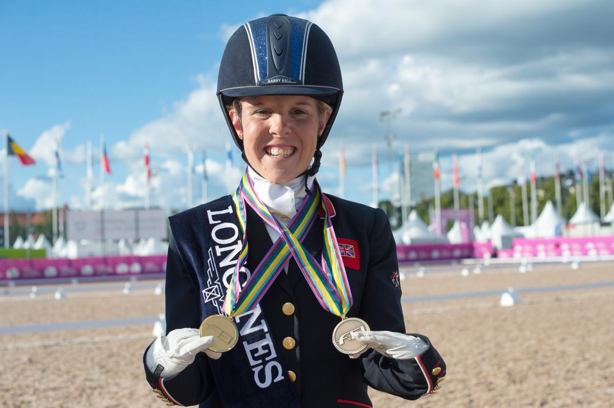
M229 315L241 314L254 308L260 301L266 290L273 283L276 276L292 256L305 276L314 295L322 308L331 313L344 317L352 306L352 295L349 289L339 246L328 208L324 203L322 191L317 181L314 180L312 195L306 195L301 203L297 214L292 218L288 227L270 213L266 205L260 200L254 191L254 185L246 172L241 179L238 189L233 194L235 209L239 224L243 230L243 247L239 253L235 271L231 277L230 285L224 301L224 312ZM239 284L238 271L247 260L247 216L245 204L251 206L256 213L281 235L262 259L256 270L244 284ZM324 248L322 250L322 266L309 254L301 241L305 238L314 219L317 210L324 211Z

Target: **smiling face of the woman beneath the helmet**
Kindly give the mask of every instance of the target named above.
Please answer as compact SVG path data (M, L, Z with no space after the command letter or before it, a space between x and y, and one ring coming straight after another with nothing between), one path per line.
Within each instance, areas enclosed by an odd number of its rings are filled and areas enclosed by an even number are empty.
M309 167L330 113L318 113L309 96L250 96L241 102L241 118L230 111L243 139L247 161L271 183L285 183Z

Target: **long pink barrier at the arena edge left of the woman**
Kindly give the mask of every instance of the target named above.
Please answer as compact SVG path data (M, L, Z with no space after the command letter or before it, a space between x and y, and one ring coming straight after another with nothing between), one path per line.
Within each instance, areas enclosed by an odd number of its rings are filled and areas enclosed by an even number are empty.
M91 276L163 274L166 255L108 256L79 259L0 259L0 281Z

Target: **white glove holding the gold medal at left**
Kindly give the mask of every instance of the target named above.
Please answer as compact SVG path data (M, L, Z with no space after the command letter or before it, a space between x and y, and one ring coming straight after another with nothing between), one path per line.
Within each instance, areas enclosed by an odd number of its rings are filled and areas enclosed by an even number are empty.
M166 336L160 336L153 341L147 350L147 368L160 377L170 378L192 364L196 354L200 352L217 360L222 353L208 349L212 342L213 336L201 337L198 329L175 329Z

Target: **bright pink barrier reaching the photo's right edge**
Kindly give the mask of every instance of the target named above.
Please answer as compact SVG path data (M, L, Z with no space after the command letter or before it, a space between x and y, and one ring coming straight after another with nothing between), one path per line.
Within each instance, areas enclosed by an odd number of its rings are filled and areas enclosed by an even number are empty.
M561 256L614 255L614 236L582 236L567 238L515 238L510 249L500 249L500 258L561 257Z

